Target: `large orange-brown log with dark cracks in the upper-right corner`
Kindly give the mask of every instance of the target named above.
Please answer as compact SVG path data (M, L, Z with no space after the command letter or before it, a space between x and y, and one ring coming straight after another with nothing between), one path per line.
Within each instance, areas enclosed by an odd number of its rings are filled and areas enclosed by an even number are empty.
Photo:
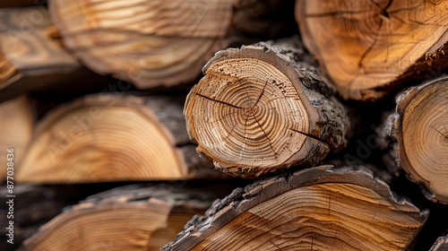
M297 0L296 18L345 99L377 100L447 67L446 1Z

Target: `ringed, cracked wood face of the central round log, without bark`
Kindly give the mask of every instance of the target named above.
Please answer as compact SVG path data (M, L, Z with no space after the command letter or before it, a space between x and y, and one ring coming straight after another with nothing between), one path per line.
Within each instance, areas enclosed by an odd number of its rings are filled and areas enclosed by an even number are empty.
M300 151L308 115L280 69L254 57L230 57L213 62L205 74L185 107L199 151L224 167L249 170L279 167Z

